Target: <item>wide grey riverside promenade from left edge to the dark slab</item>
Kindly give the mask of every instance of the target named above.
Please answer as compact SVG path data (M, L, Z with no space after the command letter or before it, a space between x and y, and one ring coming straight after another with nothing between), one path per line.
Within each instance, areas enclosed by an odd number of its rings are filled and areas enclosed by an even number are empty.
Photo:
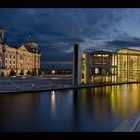
M0 93L36 92L63 89L72 86L71 78L49 77L1 77Z

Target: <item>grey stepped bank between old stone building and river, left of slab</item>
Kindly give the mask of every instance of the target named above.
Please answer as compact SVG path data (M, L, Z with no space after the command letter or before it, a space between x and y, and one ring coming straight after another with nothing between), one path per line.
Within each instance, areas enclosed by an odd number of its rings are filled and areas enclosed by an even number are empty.
M36 89L55 89L72 86L72 80L48 80L48 79L13 79L0 80L0 92L2 91L29 91Z

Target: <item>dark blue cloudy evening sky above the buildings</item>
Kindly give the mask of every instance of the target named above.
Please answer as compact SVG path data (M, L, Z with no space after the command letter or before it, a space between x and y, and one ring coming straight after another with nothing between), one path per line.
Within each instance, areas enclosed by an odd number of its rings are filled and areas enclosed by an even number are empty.
M10 44L28 34L38 42L41 60L72 60L72 46L115 50L138 47L140 10L114 8L0 8L0 26ZM135 29L137 27L137 29ZM131 34L132 33L132 34Z

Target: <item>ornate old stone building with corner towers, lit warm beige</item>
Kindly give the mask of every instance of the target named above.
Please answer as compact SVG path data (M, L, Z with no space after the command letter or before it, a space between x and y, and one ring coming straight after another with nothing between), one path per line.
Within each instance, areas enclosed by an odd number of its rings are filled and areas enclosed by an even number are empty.
M40 69L40 52L38 44L28 41L21 46L12 47L4 42L4 30L0 29L0 75L9 76L10 71L14 70L16 75L23 72Z

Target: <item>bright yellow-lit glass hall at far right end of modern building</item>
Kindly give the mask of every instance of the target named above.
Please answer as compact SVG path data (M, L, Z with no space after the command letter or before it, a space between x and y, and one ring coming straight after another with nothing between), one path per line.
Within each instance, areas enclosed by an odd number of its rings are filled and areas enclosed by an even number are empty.
M117 81L140 81L140 51L122 49L117 54Z

